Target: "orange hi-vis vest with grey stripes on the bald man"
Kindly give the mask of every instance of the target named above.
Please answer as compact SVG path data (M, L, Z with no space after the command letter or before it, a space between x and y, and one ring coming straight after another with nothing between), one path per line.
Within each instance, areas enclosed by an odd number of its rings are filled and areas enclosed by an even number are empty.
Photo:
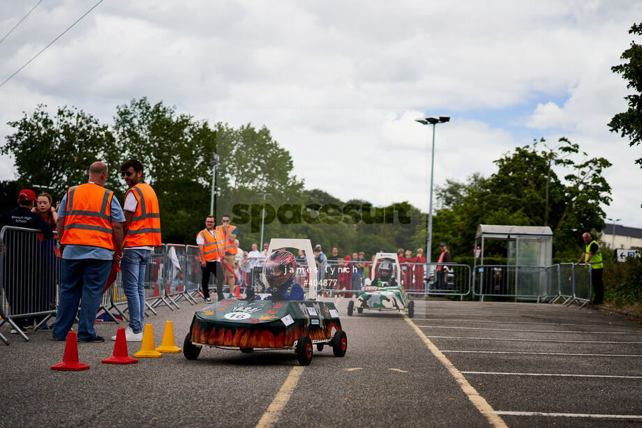
M61 244L115 250L111 206L114 192L94 183L67 190L65 230Z

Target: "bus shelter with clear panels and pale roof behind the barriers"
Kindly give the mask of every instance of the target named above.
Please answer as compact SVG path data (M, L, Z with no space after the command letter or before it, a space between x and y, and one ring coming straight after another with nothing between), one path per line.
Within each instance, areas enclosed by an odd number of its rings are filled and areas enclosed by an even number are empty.
M504 265L484 263L484 250L489 240L506 243ZM504 296L539 301L546 296L546 267L553 261L550 227L479 224L475 249L473 293L481 300L484 296Z

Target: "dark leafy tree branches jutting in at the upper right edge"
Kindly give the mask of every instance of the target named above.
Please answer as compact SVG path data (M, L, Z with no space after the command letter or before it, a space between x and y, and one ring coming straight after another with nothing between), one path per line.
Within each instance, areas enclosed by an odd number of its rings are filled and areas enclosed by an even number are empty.
M633 24L629 34L642 36L642 24ZM639 146L642 142L642 45L632 41L631 47L622 52L620 59L626 62L611 67L611 70L627 80L627 88L632 89L633 93L625 96L629 105L627 111L615 114L609 122L609 128L611 132L619 132L622 137L627 137L629 146ZM642 156L635 162L642 167Z

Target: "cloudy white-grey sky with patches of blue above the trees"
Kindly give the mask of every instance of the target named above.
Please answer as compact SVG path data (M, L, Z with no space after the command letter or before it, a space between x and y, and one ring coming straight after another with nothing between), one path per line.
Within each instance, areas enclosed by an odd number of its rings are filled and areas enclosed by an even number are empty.
M0 82L97 1L43 0L0 43ZM0 38L36 3L0 0ZM197 119L267 125L306 188L427 211L431 133L414 119L449 115L435 185L565 136L613 163L607 216L642 227L641 150L606 127L627 107L611 66L642 2L453 3L105 0L0 87L0 144L38 103L110 123L147 96ZM14 171L0 158L1 180Z

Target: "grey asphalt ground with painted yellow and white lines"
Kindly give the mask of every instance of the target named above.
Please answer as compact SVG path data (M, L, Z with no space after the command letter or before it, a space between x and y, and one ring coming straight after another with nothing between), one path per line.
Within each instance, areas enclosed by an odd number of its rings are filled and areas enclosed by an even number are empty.
M279 427L642 426L639 323L576 307L447 300L417 300L409 323L389 312L347 316L348 300L335 301L348 351L315 350L296 380L292 351L205 348L195 361L179 353L101 364L111 341L78 344L91 369L57 372L63 342L48 331L24 342L2 326L11 344L0 343L0 427L255 427L273 403L283 411L267 419ZM165 320L182 346L205 306L180 305L147 319L157 346ZM96 323L105 337L116 327ZM285 399L284 385L294 385Z

